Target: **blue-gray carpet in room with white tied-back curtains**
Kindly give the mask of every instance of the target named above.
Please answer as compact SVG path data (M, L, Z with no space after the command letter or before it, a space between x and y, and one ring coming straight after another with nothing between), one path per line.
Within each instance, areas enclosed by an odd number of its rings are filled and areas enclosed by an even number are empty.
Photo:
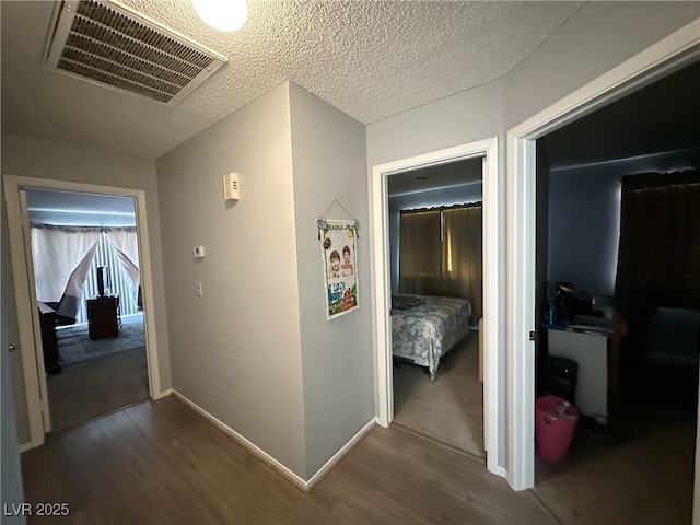
M88 324L58 328L56 336L59 361L62 365L145 347L142 315L124 317L117 337L92 340L88 332Z

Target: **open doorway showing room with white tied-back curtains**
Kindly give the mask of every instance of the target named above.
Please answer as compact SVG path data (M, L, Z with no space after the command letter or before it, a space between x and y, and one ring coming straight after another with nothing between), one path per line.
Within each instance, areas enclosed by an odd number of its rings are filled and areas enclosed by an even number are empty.
M149 398L136 208L131 197L24 191L57 432Z

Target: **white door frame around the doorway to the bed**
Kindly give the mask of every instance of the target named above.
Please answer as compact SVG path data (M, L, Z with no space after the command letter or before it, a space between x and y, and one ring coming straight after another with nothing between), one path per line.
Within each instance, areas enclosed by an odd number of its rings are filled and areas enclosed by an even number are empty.
M372 167L370 187L370 250L373 303L373 342L376 360L377 422L388 427L394 420L390 327L390 271L387 178L394 174L436 164L483 156L483 446L487 468L501 476L498 457L499 355L502 345L499 317L499 172L498 139L448 148Z

